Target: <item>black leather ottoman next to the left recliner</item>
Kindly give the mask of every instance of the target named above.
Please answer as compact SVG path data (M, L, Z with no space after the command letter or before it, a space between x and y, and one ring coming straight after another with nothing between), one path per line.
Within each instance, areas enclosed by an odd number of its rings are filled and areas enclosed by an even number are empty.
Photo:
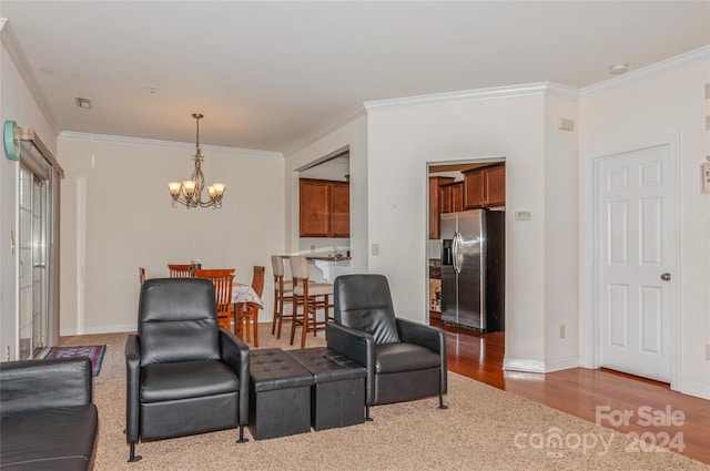
M281 348L250 352L248 428L254 439L311 431L313 375Z

